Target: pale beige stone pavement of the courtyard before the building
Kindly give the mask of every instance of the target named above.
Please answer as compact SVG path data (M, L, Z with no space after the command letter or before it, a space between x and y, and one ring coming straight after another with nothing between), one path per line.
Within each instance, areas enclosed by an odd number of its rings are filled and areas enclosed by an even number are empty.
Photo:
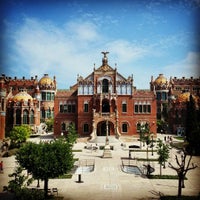
M163 139L163 135L158 135ZM74 149L81 149L82 152L75 152L75 158L79 160L94 160L95 168L93 172L81 175L82 183L78 183L78 175L73 174L71 179L50 179L49 188L58 188L59 196L64 196L66 200L137 200L137 199L159 199L159 194L177 195L178 180L147 179L145 176L124 173L121 169L121 158L128 157L129 151L121 146L124 143L129 145L139 145L137 140L132 138L121 138L119 143L111 143L114 146L112 158L102 158L103 150L91 151L85 149L86 143L79 141L75 144ZM91 145L91 144L89 144ZM96 145L96 144L92 144ZM98 146L101 144L98 144ZM103 144L102 144L103 145ZM176 149L170 150L169 161L175 164ZM132 157L144 157L146 153L132 152ZM156 158L149 152L149 158ZM13 172L16 165L14 156L1 158L4 161L4 173L0 174L0 192L4 185L7 185L8 174ZM198 195L200 192L200 157L193 157L192 162L199 167L187 173L188 180L185 181L185 188L182 189L183 195ZM191 163L192 163L191 162ZM139 165L146 163L140 162ZM155 168L153 174L160 173L160 167L157 162L150 163ZM176 174L167 164L162 169L162 174ZM33 182L31 187L36 187L37 182ZM43 188L43 183L40 182Z

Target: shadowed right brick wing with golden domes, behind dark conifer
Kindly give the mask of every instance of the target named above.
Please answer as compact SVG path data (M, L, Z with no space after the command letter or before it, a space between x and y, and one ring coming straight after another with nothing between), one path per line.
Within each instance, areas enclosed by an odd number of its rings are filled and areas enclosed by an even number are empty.
M169 81L159 74L150 82L151 91L156 94L157 119L166 121L171 133L184 134L186 123L186 104L192 95L199 109L200 78L170 77Z

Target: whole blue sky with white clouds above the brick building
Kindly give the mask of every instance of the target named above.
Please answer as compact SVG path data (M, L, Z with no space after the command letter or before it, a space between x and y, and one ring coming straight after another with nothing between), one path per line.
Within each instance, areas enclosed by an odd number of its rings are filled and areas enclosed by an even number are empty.
M68 89L109 51L139 89L160 73L199 77L199 19L200 0L0 0L0 73Z

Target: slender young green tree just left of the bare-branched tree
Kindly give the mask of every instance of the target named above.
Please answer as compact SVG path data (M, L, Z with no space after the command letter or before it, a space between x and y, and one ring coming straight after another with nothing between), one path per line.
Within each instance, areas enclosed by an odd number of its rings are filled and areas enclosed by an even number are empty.
M160 176L162 175L162 166L165 167L165 162L169 158L169 145L164 144L161 139L157 141L158 163L160 164Z

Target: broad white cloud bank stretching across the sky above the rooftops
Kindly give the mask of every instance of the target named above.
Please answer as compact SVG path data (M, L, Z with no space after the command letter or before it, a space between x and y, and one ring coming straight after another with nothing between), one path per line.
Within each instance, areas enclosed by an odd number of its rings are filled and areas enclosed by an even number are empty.
M133 74L138 88L149 88L151 75L164 73L169 76L194 76L200 64L199 55L191 52L187 57L164 69L151 67L148 60L162 57L161 49L167 44L174 44L177 37L167 41L159 38L157 43L133 42L120 38L107 38L100 26L92 21L69 21L63 26L56 26L51 21L25 18L24 23L12 32L15 50L16 68L25 74L22 68L29 71L30 76L48 73L56 76L58 88L68 88L76 83L76 75L89 75L101 65L101 51L109 51L109 64L113 67L117 62L117 70L124 76ZM158 52L159 50L159 52ZM162 57L163 58L163 57ZM114 60L114 62L112 62ZM157 61L156 61L157 62ZM162 70L162 71L161 71Z

